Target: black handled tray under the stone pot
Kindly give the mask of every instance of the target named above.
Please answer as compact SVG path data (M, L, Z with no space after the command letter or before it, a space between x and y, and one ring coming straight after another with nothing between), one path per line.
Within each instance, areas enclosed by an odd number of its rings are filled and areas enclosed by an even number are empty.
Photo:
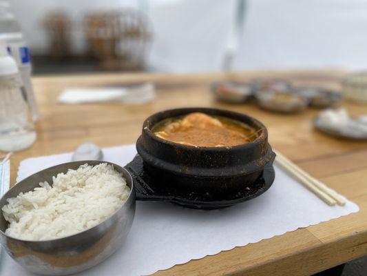
M253 199L265 193L273 184L275 171L273 162L264 167L262 175L251 184L237 193L231 195L218 195L211 193L193 193L192 191L162 186L159 175L148 175L144 170L143 159L139 155L125 166L134 180L136 199L143 201L168 201L188 208L216 209L233 206ZM160 181L162 182L162 181Z

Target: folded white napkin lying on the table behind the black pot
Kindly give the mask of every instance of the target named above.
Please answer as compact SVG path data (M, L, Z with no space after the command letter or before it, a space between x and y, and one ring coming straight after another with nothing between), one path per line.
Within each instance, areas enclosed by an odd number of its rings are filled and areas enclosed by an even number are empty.
M152 83L120 88L66 88L57 99L60 103L98 103L118 101L125 103L145 103L156 98Z

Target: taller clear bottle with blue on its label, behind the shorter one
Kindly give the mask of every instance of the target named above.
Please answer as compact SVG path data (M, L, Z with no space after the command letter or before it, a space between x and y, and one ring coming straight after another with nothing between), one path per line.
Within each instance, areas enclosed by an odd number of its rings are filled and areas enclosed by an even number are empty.
M30 53L23 39L19 23L8 8L8 2L0 1L0 41L6 43L9 54L17 61L19 73L23 81L23 86L21 87L23 97L25 97L25 100L30 105L33 121L36 121L39 118L39 113L30 81L32 74Z

